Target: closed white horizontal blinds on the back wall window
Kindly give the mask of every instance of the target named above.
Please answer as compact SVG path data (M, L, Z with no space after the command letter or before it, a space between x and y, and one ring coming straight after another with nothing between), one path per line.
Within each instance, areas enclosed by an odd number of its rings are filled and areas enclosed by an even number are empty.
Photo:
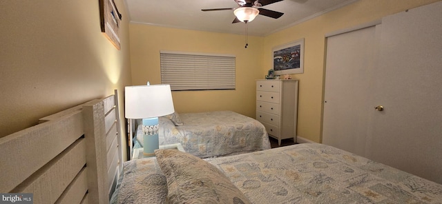
M171 90L235 89L233 55L161 51L161 83Z

